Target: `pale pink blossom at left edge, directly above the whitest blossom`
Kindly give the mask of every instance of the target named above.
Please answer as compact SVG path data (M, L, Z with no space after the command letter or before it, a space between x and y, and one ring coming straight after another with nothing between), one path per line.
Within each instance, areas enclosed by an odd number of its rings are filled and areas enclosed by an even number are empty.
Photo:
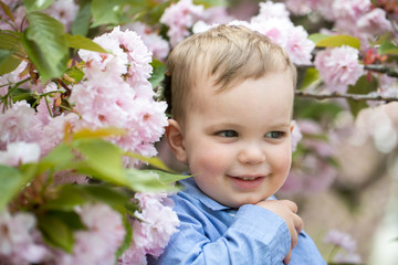
M38 141L41 138L41 127L34 109L25 100L17 102L0 115L0 149L7 142Z

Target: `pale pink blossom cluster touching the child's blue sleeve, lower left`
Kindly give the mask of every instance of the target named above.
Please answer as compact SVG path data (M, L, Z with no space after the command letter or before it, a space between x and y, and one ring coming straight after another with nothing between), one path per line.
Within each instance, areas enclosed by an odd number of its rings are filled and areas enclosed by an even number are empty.
M166 193L136 193L140 211L130 220L133 243L119 257L119 265L147 264L146 254L160 256L170 236L177 232L179 220L172 211L172 201Z

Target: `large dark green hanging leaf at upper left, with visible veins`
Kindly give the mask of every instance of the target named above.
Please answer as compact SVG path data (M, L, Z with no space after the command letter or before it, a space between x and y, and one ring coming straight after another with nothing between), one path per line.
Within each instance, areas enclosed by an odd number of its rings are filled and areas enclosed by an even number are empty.
M62 76L69 60L63 24L40 12L29 13L28 20L30 25L22 36L22 44L42 82Z

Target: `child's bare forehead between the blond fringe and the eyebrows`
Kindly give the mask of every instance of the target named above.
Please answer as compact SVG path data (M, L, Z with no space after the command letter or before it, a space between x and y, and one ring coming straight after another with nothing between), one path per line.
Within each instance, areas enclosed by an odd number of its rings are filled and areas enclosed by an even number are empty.
M198 82L191 94L189 113L208 117L250 117L266 114L289 116L293 109L293 83L290 71L271 72L219 91L210 78Z

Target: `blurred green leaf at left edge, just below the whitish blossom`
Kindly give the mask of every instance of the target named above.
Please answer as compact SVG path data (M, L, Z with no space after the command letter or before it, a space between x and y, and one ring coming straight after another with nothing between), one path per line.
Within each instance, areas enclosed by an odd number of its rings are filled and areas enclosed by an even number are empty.
M2 212L27 181L17 169L0 165L0 212Z

